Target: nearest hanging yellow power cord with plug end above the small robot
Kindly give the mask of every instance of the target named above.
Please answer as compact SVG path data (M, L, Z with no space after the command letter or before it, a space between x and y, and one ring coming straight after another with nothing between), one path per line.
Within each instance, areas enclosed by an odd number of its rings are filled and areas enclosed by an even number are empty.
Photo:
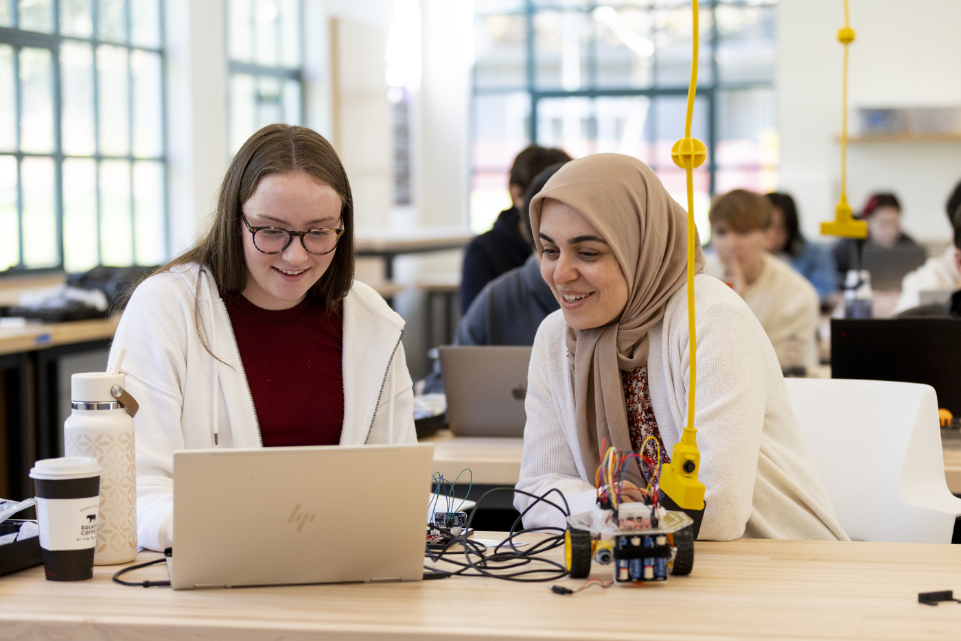
M704 484L698 481L701 453L698 451L698 431L694 426L694 393L697 389L698 339L694 322L694 261L697 248L697 229L694 224L694 169L707 158L707 148L697 138L691 137L694 120L694 98L698 92L699 17L698 0L691 1L693 12L694 58L691 60L691 83L687 87L687 117L684 120L684 137L674 143L671 159L687 172L687 333L690 377L687 387L687 426L680 441L671 452L671 462L661 471L660 489L668 508L680 508L695 519L695 535L701 527L704 509ZM665 499L662 497L662 500ZM671 505L674 504L674 505Z

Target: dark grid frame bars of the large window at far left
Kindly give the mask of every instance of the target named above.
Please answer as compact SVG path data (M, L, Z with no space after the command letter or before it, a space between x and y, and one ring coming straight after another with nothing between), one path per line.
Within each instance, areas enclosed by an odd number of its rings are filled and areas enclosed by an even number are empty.
M98 10L99 2L97 0L91 0L90 2L90 14L92 22L92 35L90 37L79 37L79 36L64 36L61 34L61 0L51 0L52 9L52 20L54 23L54 33L42 33L27 31L24 29L19 29L17 27L2 27L0 26L0 44L10 45L13 48L13 92L14 92L14 136L16 140L16 151L11 152L0 152L0 156L3 157L13 157L16 159L16 215L17 215L17 244L18 244L18 254L19 261L7 268L4 271L0 271L0 278L6 275L25 275L25 274L44 274L44 273L56 273L65 272L64 264L64 243L63 243L63 160L68 159L89 159L94 160L96 163L95 171L95 185L94 192L96 196L96 214L97 214L97 265L103 265L103 247L101 243L101 225L102 221L102 205L103 205L103 194L100 185L100 163L103 160L124 160L130 163L130 217L131 217L131 257L132 265L138 265L136 261L136 191L135 191L135 179L134 179L134 163L137 160L149 160L154 162L160 162L162 168L162 185L161 190L163 192L163 210L161 212L162 217L162 229L163 229L163 240L162 249L163 256L170 256L170 234L168 228L169 224L169 202L170 202L170 192L169 192L169 166L167 160L167 86L166 86L166 54L165 54L165 33L164 33L164 0L158 0L158 27L159 27L159 47L147 47L141 45L132 44L130 40L131 33L131 1L124 1L124 20L125 20L125 30L127 33L127 42L118 42L115 40L102 39L98 35ZM18 0L11 0L11 18L13 24L19 23L19 2ZM75 155L75 154L64 154L62 147L62 69L61 69L61 45L64 41L71 42L81 42L88 44L93 52L94 59L91 64L91 74L93 78L92 86L92 104L93 104L93 140L94 140L94 153L90 155ZM99 77L100 71L97 68L96 63L96 50L100 45L109 45L113 47L122 47L127 50L128 62L127 62L127 112L128 112L128 136L130 140L130 148L126 155L111 155L102 154L100 152L100 94L99 94ZM21 145L21 118L22 118L22 92L21 92L21 81L20 81L20 60L19 53L25 48L37 48L37 49L47 49L51 52L53 68L53 87L52 87L52 100L53 100L53 151L50 153L38 153L38 152L24 152L20 149ZM134 154L134 91L133 91L133 78L134 74L130 67L130 54L134 50L146 51L149 53L157 54L160 58L160 140L161 140L161 153L160 156L152 157L138 157ZM57 246L57 256L58 262L55 265L43 266L43 267L29 267L24 264L24 224L23 224L23 174L22 174L22 163L24 158L49 158L54 162L54 215L56 221L56 246Z

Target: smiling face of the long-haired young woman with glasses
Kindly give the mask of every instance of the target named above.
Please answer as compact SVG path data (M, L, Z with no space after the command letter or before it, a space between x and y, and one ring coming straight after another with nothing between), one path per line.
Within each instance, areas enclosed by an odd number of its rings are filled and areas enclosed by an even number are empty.
M252 227L281 227L306 232L315 227L340 225L341 200L331 185L318 183L303 172L268 174L260 179L254 194L243 204L244 216ZM289 309L304 300L308 290L331 265L330 254L315 256L293 238L280 254L264 254L254 246L253 235L243 220L237 222L243 237L247 263L247 286L243 296L263 309Z

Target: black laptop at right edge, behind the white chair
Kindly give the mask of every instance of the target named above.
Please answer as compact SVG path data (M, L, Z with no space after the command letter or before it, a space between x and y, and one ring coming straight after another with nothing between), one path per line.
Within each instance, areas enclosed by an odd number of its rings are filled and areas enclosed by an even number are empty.
M924 382L961 416L961 320L831 320L831 378Z

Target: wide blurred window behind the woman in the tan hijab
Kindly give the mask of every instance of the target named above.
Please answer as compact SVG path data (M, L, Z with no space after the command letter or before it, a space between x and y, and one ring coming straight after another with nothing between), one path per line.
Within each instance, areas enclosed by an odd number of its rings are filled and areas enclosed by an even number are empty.
M710 196L776 186L775 0L702 1L693 136L707 145L695 170L696 214L709 237ZM476 0L471 226L509 207L507 172L530 144L575 158L628 154L653 167L680 203L691 64L686 0Z

